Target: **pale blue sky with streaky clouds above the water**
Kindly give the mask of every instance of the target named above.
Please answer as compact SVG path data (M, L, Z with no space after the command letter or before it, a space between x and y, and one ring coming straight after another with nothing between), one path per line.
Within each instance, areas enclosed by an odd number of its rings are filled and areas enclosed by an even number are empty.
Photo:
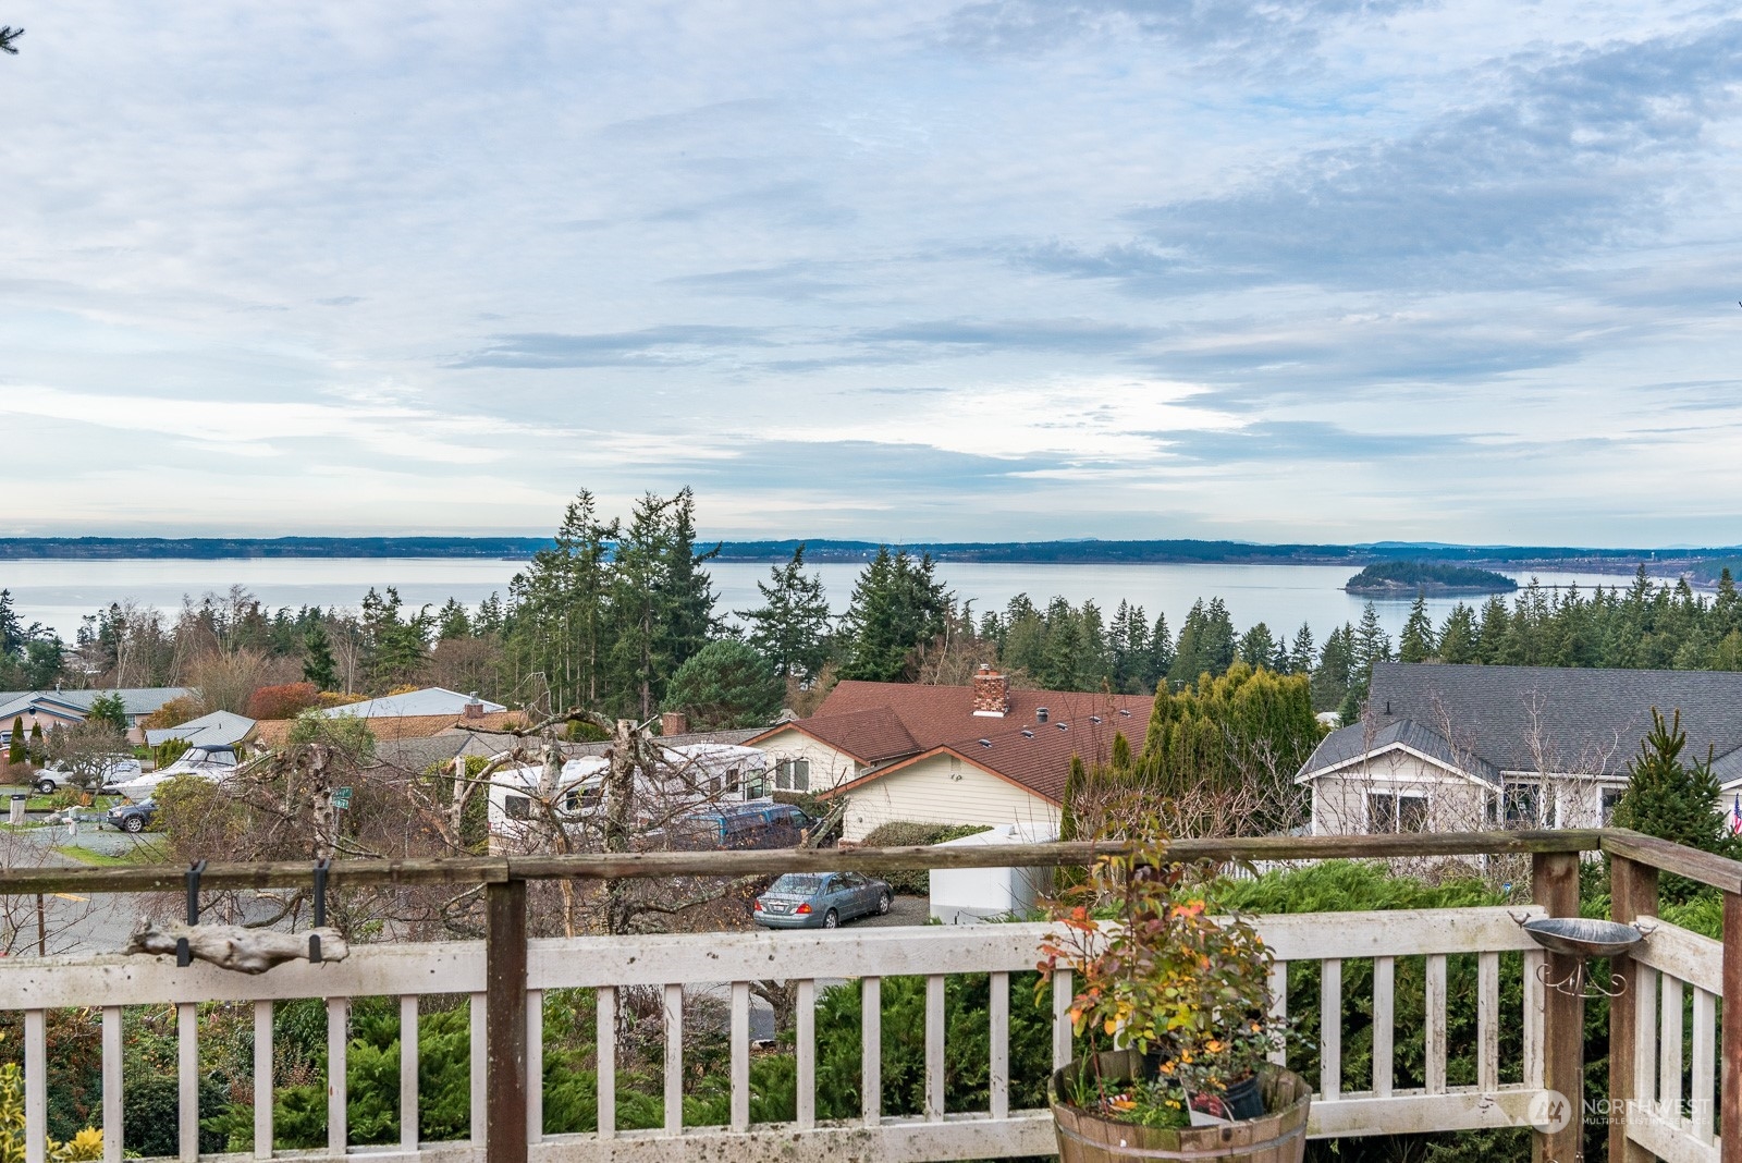
M0 23L0 534L1742 543L1733 5Z

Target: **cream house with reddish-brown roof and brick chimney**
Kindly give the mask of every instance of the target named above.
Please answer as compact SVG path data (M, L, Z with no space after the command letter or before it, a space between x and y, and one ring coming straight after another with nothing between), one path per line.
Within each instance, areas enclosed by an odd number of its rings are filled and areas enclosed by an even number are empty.
M841 682L808 719L749 740L775 790L845 796L843 839L880 824L1057 829L1071 756L1106 759L1113 736L1143 749L1153 698L1012 689L981 667L969 686Z

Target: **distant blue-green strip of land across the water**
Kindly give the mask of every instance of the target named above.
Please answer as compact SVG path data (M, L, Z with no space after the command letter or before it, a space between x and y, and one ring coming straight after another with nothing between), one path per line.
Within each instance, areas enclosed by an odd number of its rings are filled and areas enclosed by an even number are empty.
M807 540L808 562L864 562L880 543L817 538ZM550 548L550 538L535 536L287 536L287 538L0 538L0 561L228 561L228 559L472 559L528 561ZM777 541L723 541L716 561L782 562L800 545ZM1641 562L1651 573L1681 575L1709 582L1721 564L1742 559L1742 547L1723 548L1587 548L1441 545L1376 541L1357 545L1254 545L1247 541L1150 540L1150 541L937 541L904 547L930 554L941 562L984 562L1024 566L1118 566L1118 564L1265 564L1265 566L1371 566L1388 561L1456 562L1512 571L1557 569L1589 573L1632 573ZM1707 576L1709 575L1709 576ZM1413 592L1413 588L1411 588Z

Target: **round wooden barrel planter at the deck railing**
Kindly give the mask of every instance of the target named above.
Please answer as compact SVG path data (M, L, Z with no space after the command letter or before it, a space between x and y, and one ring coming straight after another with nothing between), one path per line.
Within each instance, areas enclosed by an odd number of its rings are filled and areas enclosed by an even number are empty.
M1094 1069L1108 1079L1132 1078L1139 1059L1118 1050L1096 1055ZM1047 1100L1059 1133L1059 1163L1300 1163L1306 1153L1306 1109L1312 1088L1291 1071L1259 1074L1265 1116L1228 1126L1138 1126L1120 1123L1059 1099L1068 1093L1077 1064L1052 1074Z

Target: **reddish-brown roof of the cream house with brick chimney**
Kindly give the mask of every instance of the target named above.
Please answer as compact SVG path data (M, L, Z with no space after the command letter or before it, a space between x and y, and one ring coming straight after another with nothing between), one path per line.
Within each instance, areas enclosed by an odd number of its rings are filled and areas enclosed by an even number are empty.
M1047 709L1047 723L1040 723L1042 707ZM974 714L970 686L841 682L815 716L784 726L794 726L861 763L885 764L838 790L942 750L1057 803L1071 756L1082 756L1085 763L1103 761L1118 733L1132 752L1143 750L1153 709L1155 700L1143 695L1010 691L1010 710L1000 719ZM911 743L904 743L902 736ZM906 750L901 749L904 745Z

